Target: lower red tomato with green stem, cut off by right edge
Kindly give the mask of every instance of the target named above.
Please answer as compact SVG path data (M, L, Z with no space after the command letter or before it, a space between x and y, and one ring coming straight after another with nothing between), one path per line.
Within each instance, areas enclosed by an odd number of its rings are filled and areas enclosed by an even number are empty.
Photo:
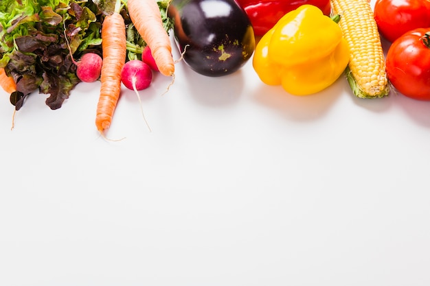
M386 64L388 80L400 93L430 100L430 27L397 38L387 51Z

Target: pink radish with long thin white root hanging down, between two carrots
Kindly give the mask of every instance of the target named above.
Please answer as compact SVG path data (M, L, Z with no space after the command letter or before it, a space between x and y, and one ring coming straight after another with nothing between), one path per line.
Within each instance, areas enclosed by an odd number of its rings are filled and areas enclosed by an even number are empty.
M122 67L121 80L126 88L142 91L152 82L151 68L142 60L129 60Z

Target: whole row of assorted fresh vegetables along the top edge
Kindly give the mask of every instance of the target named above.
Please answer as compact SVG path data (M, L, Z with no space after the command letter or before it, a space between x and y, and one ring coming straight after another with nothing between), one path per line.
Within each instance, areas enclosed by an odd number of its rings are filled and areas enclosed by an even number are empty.
M35 91L54 110L79 82L100 80L104 134L122 85L139 97L153 72L173 82L173 32L181 60L201 75L229 75L253 56L260 80L291 95L343 73L360 98L394 86L430 100L429 19L427 0L377 0L374 12L368 0L2 0L0 85L15 110ZM393 42L386 61L380 35Z

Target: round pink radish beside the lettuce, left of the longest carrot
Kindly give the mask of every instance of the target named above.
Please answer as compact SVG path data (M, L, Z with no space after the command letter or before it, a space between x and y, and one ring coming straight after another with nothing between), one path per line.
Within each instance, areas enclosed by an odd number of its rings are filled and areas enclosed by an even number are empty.
M76 65L76 75L82 82L95 82L102 72L102 57L97 53L85 53Z

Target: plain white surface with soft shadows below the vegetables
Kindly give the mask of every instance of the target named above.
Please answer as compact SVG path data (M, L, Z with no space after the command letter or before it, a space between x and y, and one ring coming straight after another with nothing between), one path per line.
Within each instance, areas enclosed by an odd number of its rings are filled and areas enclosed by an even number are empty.
M295 97L251 61L168 84L140 93L152 132L124 89L115 142L98 82L13 130L1 91L1 286L430 285L430 102Z

